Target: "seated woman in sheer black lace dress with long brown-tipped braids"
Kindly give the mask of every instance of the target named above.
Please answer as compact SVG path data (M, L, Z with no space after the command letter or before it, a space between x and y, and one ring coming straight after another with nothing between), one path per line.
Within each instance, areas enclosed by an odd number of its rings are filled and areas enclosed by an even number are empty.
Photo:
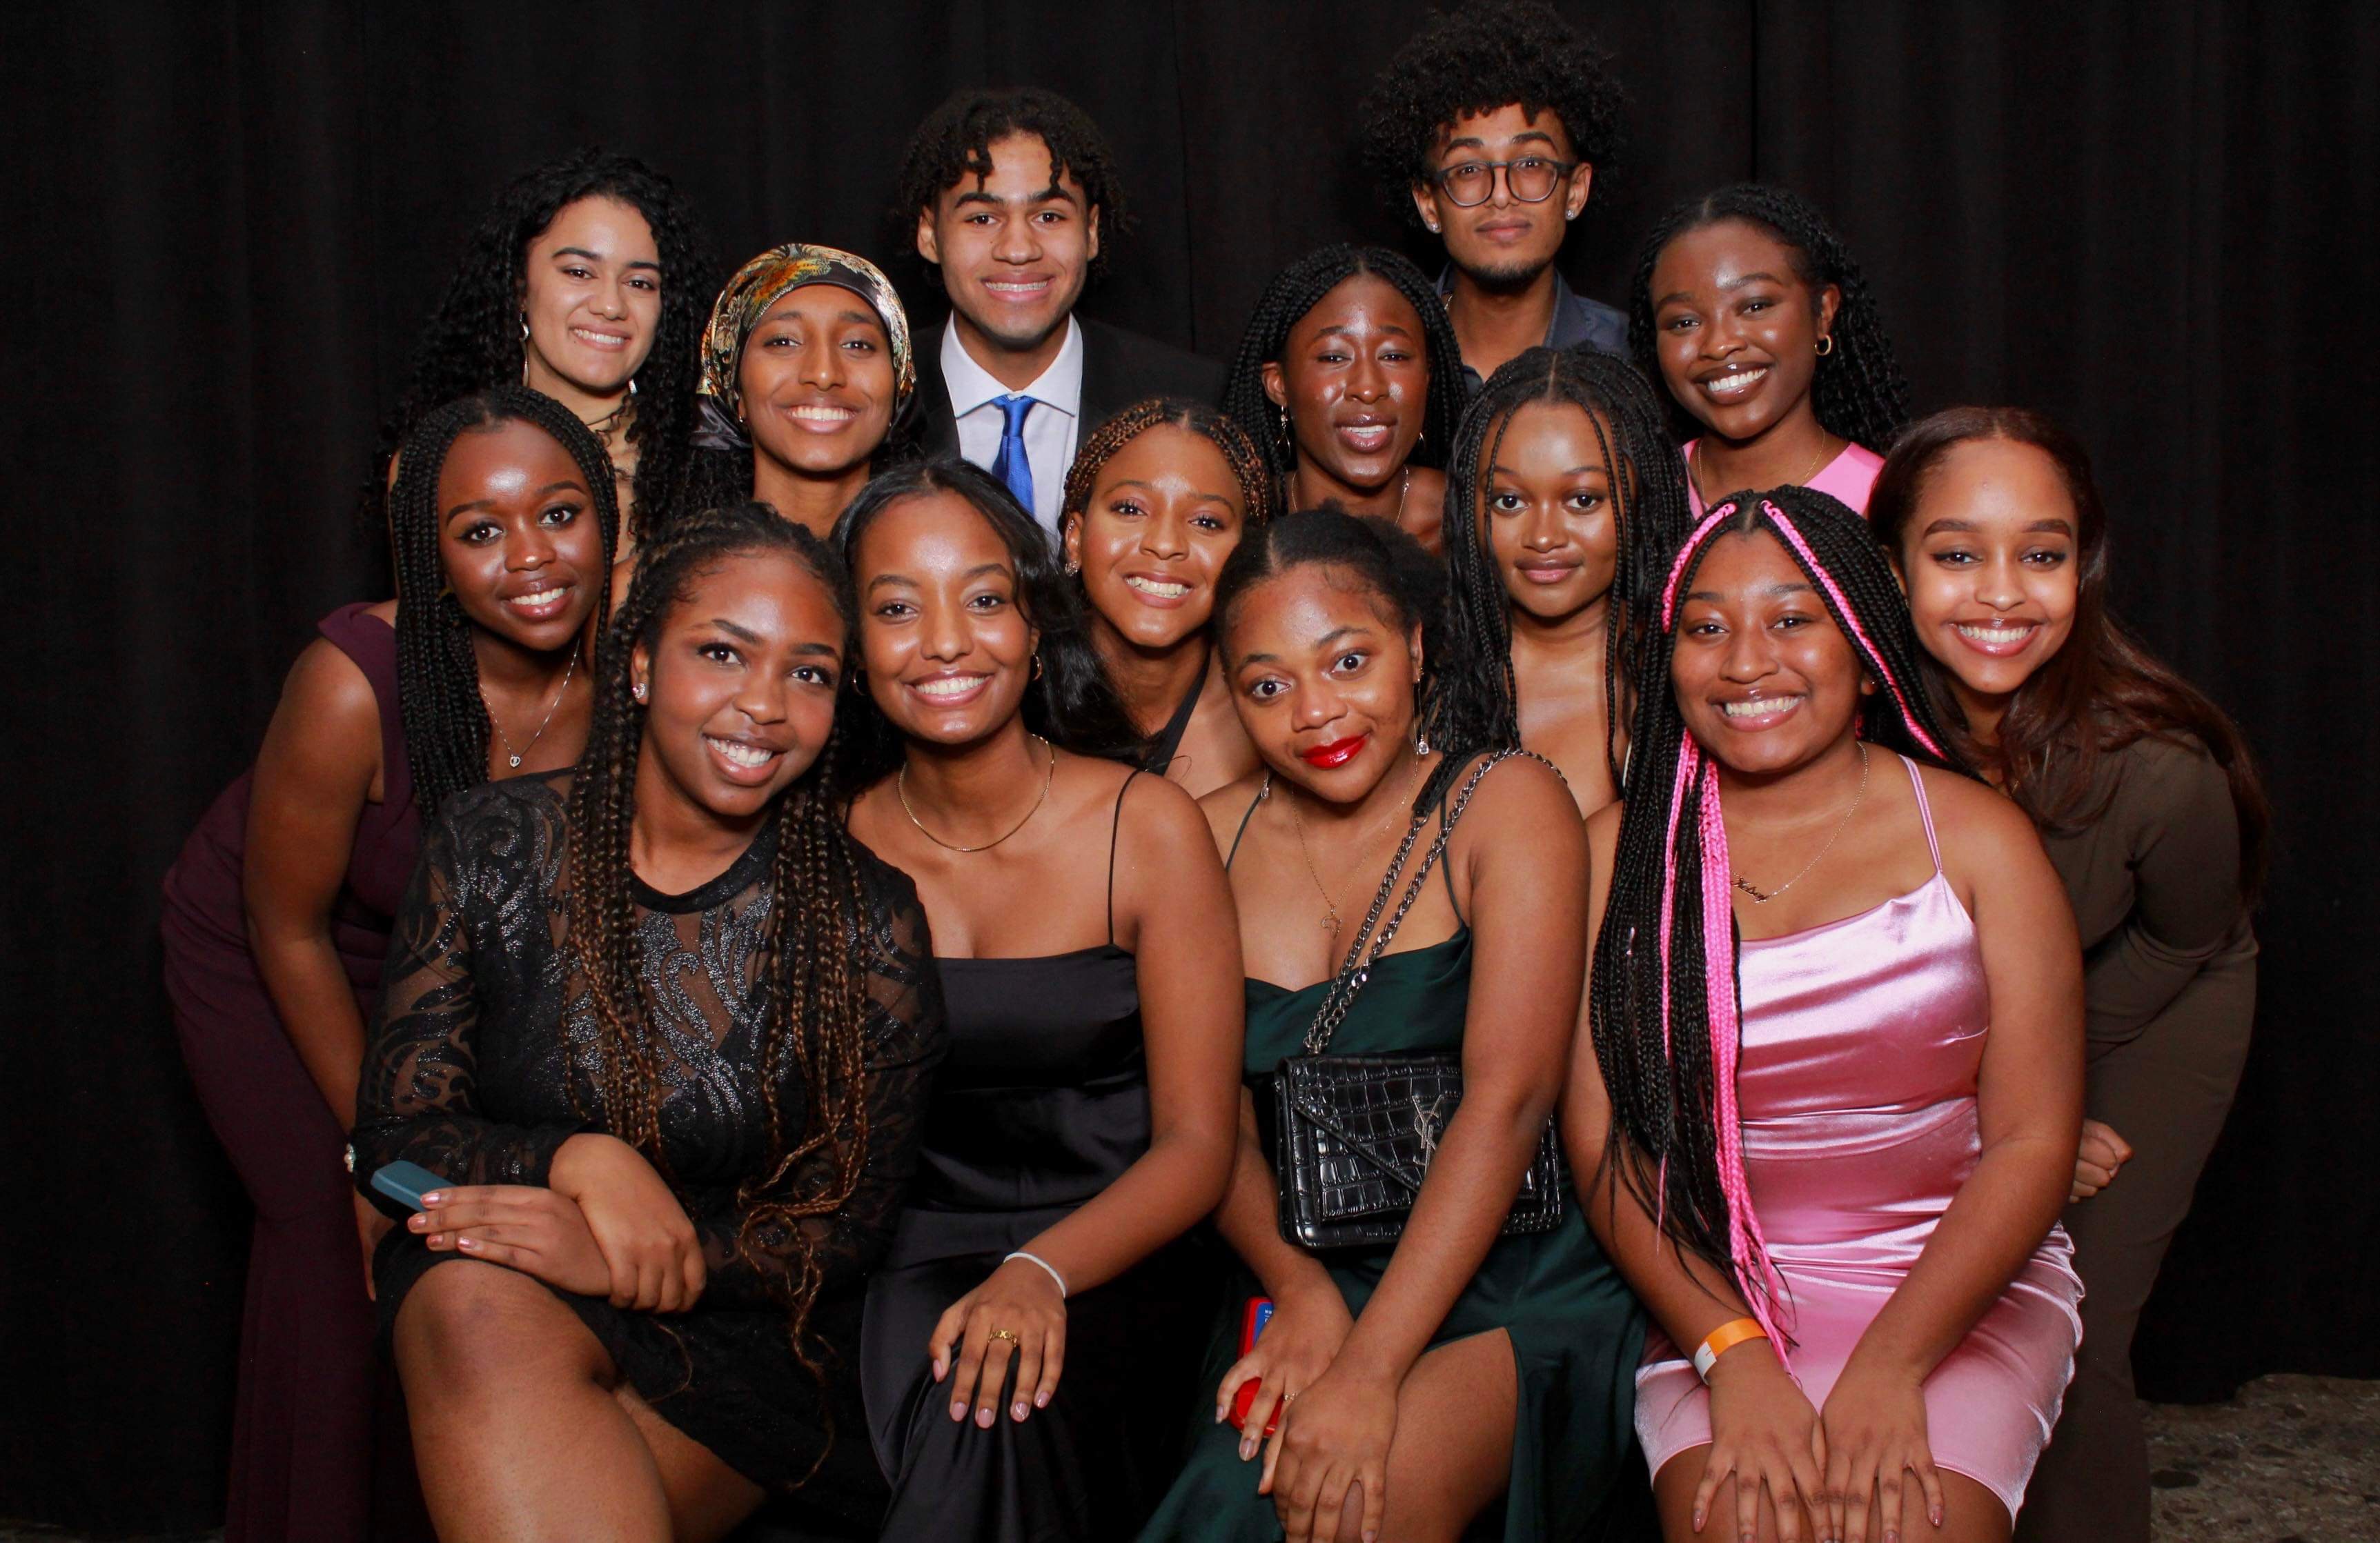
M450 799L397 915L355 1177L445 1538L873 1526L850 1346L942 1008L828 785L850 587L759 504L645 549L576 773Z

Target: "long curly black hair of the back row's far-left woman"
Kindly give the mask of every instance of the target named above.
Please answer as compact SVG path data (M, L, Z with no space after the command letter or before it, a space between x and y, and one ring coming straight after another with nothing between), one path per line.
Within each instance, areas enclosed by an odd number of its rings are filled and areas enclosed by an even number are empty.
M521 285L528 245L581 197L616 197L645 216L662 254L662 316L652 352L635 371L635 416L628 440L638 447L635 518L643 535L669 504L685 473L695 428L697 340L712 314L716 271L693 202L676 183L628 155L585 147L533 166L497 193L471 231L445 300L421 330L412 380L381 426L371 478L362 490L367 516L378 523L388 459L431 409L521 378Z

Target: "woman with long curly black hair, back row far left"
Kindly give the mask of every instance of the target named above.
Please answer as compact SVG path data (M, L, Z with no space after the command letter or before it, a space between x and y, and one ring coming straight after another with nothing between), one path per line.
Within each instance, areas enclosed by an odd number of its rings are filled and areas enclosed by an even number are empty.
M685 473L709 281L693 202L645 162L590 147L524 171L471 231L421 333L367 509L381 509L390 459L421 414L516 380L602 440L633 547Z

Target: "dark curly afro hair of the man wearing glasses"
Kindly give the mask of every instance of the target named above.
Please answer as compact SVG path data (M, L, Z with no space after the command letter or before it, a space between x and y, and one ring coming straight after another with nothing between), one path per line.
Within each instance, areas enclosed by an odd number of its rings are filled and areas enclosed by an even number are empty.
M1611 166L1628 107L1611 55L1545 0L1483 0L1430 19L1364 95L1364 164L1380 197L1418 226L1411 188L1428 181L1438 136L1509 102L1552 112L1578 159Z

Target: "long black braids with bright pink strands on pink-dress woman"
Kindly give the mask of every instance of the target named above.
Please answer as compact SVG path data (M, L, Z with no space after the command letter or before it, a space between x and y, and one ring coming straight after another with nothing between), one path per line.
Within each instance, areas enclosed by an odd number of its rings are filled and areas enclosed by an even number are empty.
M1771 487L1721 499L1668 563L1637 656L1630 796L1587 1025L1611 1091L1606 1160L1678 1248L1730 1274L1771 1339L1783 1281L1745 1179L1735 1058L1742 1044L1733 870L1718 763L1695 742L1668 682L1678 613L1721 535L1764 533L1809 575L1859 666L1875 680L1859 735L1878 749L1973 775L1925 692L1909 606L1866 521L1823 492Z

